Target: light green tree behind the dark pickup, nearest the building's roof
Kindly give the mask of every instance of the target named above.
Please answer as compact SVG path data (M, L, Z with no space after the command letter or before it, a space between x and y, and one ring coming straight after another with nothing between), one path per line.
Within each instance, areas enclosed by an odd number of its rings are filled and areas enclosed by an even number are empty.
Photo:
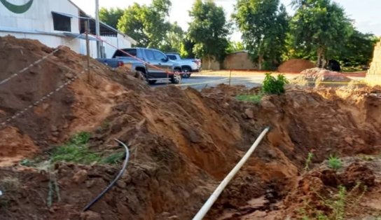
M170 6L169 0L153 0L150 6L135 3L124 11L118 29L135 39L137 46L160 48L171 26L166 21Z

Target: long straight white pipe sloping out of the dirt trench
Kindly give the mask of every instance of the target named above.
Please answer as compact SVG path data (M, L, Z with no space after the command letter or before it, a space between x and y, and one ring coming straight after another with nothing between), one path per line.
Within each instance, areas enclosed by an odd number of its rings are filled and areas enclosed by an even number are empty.
M202 220L204 218L204 216L207 214L207 212L212 207L214 202L216 202L217 198L219 198L219 195L221 195L223 189L229 184L230 180L233 179L235 174L237 174L237 172L241 169L241 167L244 165L244 163L246 163L246 161L249 159L251 154L254 152L254 150L256 149L258 144L261 142L263 137L265 137L265 135L267 134L267 132L269 130L270 130L269 127L265 128L265 130L263 130L261 135L259 135L259 137L256 139L256 142L254 142L254 144L251 145L249 151L247 151L247 153L244 155L244 157L240 160L239 163L237 163L237 165L235 165L233 170L229 172L229 174L225 177L225 179L223 179L223 181L221 181L221 184L219 184L219 186L216 188L216 190L213 192L213 194L210 195L207 202L205 202L205 204L201 207L200 211L198 211L198 213L193 217L193 220Z

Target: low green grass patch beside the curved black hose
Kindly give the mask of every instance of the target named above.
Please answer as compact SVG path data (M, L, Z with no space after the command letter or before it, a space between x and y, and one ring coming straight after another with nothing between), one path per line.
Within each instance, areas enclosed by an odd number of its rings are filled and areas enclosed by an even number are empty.
M52 153L52 162L64 161L73 163L89 164L101 160L98 153L89 150L88 142L91 135L81 132L74 135L69 142L58 146Z

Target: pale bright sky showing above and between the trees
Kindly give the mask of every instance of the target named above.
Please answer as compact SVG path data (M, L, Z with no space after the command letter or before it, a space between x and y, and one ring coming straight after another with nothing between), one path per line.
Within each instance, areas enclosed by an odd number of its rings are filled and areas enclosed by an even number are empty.
M95 0L71 0L90 15L95 14ZM214 0L217 5L222 6L230 18L234 11L236 0ZM289 13L292 10L289 6L291 0L280 0L287 7ZM99 0L99 6L104 8L126 8L137 2L139 4L151 4L151 0ZM191 18L188 11L192 8L193 0L172 0L172 8L169 13L169 21L177 22L184 30L188 29L188 22ZM340 6L345 8L345 12L352 20L355 20L356 28L363 33L373 33L381 36L381 1L380 0L337 0ZM234 41L240 41L240 33L235 31L231 37Z

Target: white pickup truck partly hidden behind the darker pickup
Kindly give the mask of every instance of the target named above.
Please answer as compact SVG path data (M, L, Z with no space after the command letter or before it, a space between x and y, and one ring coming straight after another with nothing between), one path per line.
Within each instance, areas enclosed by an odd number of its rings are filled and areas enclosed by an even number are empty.
M165 55L167 55L169 60L181 65L181 69L183 70L183 74L181 74L181 76L183 78L189 78L192 73L202 70L200 59L181 59L179 53L165 53Z

